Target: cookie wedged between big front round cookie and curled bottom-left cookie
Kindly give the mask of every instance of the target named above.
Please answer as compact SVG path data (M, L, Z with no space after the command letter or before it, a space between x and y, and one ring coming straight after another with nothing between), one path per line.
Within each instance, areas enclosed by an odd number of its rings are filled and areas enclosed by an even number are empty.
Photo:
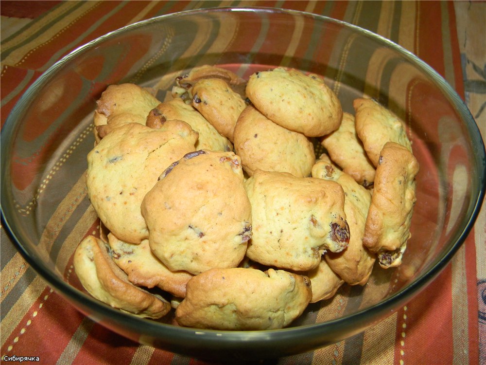
M123 242L108 234L113 262L137 286L158 287L179 298L186 296L186 285L192 275L184 271L170 271L150 250L148 239L139 245Z

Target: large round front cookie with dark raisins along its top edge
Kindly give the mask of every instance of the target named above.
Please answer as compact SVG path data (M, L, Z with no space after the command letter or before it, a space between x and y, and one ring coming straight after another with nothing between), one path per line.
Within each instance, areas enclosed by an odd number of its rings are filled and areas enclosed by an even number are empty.
M141 212L152 251L171 271L236 267L251 237L251 206L233 152L187 154L162 173Z

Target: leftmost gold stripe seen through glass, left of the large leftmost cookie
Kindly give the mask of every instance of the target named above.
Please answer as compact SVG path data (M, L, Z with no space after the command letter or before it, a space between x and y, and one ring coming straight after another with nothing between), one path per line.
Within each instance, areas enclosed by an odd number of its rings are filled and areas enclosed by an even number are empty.
M45 249L47 252L51 251L52 243L61 232L65 222L72 215L79 203L87 195L86 188L86 171L81 175L74 186L69 190L66 197L59 203L52 217L46 224L46 228L42 232L39 242L39 248Z

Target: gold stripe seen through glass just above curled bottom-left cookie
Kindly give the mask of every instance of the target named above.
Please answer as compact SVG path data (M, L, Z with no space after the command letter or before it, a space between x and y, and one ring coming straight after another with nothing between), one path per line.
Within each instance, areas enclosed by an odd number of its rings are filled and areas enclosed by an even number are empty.
M71 233L69 233L66 240L63 242L59 255L56 259L56 267L61 273L66 271L66 266L68 265L69 258L78 247L83 237L87 234L87 228L91 227L94 221L98 218L93 206L89 204L86 212L79 219L76 225L73 227ZM89 232L91 235L96 235L98 232Z

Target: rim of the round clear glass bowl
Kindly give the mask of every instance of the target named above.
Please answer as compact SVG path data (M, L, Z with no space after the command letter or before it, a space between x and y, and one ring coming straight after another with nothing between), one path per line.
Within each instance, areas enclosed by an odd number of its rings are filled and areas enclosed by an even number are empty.
M4 209L4 202L0 201L0 213L1 213L1 225L5 228L5 232L11 237L12 242L17 248L17 251L25 258L28 264L35 270L37 274L39 274L43 279L47 282L48 285L52 286L54 289L57 290L61 296L69 297L72 301L77 304L83 304L83 301L87 301L89 303L89 307L95 308L96 312L102 313L104 316L109 316L114 318L119 323L125 323L126 321L132 322L135 326L143 325L144 330L143 332L152 332L159 333L162 329L163 330L175 330L177 335L175 337L184 337L188 339L206 339L208 341L218 341L219 345L221 345L221 340L226 339L229 343L235 341L241 341L243 338L247 341L248 344L257 343L262 341L271 341L276 342L280 341L283 338L291 337L295 340L295 337L306 337L311 338L311 336L316 335L318 336L319 333L322 333L324 329L329 329L333 326L337 327L349 327L349 323L356 324L357 322L362 321L368 314L379 312L389 312L391 315L395 310L394 307L397 305L403 305L409 300L412 299L413 296L417 295L421 290L425 289L425 287L430 284L433 279L438 275L442 269L450 262L452 256L457 252L460 246L464 243L466 237L468 237L470 230L472 229L475 220L480 212L481 205L484 200L485 190L486 190L486 153L485 153L485 146L483 139L481 137L481 133L479 128L474 121L469 109L464 104L462 99L459 97L457 92L452 89L452 87L447 83L447 81L439 75L431 66L427 63L422 61L412 52L404 49L403 47L399 46L398 44L394 43L393 41L382 37L378 34L375 34L371 31L363 29L359 26L347 23L343 20L338 20L334 18L330 18L323 15L312 14L304 11L298 10L290 10L290 9L277 9L271 7L210 7L204 9L192 9L192 10L185 10L170 14L164 14L161 16L157 16L154 18L149 18L145 20L138 21L133 24L129 24L127 26L121 27L117 30L111 31L101 37L93 39L86 44L77 47L70 51L67 55L63 56L61 59L56 61L52 66L50 66L44 73L42 73L35 82L28 88L27 91L20 97L17 101L16 105L10 112L7 120L1 130L1 154L3 156L8 156L9 149L6 147L8 144L6 143L6 139L14 130L18 123L16 122L16 114L17 110L21 110L26 104L28 104L31 98L35 95L35 91L42 88L53 76L55 76L57 70L64 67L65 64L69 63L69 61L80 54L88 51L92 47L98 45L99 43L104 42L106 39L111 37L116 37L120 33L123 33L127 30L131 30L134 28L143 27L146 24L150 24L153 22L160 22L166 18L178 18L184 17L188 15L198 15L198 14L208 14L208 13L224 13L224 12L257 12L257 13L279 13L279 14L290 14L290 15L298 15L304 17L311 17L315 19L319 19L323 22L330 22L341 25L346 28L350 28L353 31L359 32L364 34L367 37L374 38L378 42L382 42L384 45L393 48L397 51L400 55L403 55L405 58L411 58L414 64L425 71L429 77L431 77L434 82L441 86L442 91L450 97L451 105L458 109L458 114L463 115L464 121L466 122L466 127L469 131L471 142L473 148L476 148L475 154L475 166L478 168L478 171L482 174L478 177L478 189L472 192L471 202L469 204L470 216L467 222L463 225L462 229L459 229L458 233L455 237L450 239L451 244L448 247L448 250L445 254L434 260L434 262L429 264L427 270L425 270L421 275L417 276L414 281L409 283L406 287L402 288L398 292L395 292L389 297L382 299L380 302L376 303L372 307L364 308L362 310L358 310L354 313L347 314L345 316L326 321L321 323L313 323L307 325L301 325L298 327L287 327L284 329L271 329L271 330L257 330L257 331L232 331L232 330L214 330L214 329L192 329L192 328L185 328L185 327L176 327L170 324L159 323L153 320L142 319L136 317L134 315L123 313L120 310L113 309L102 302L97 301L96 299L90 297L89 295L78 291L71 285L69 285L64 280L61 280L55 274L52 274L50 270L43 265L41 262L37 261L35 255L32 255L28 250L21 243L21 239L18 235L18 230L15 229L15 226L10 223L8 209L7 212ZM18 122L18 120L17 120ZM2 158L1 161L1 176L6 176L8 174L8 162ZM7 191L7 187L5 186L5 179L1 181L1 193L2 197L8 196L9 194L4 194ZM78 308L76 308L78 309ZM79 310L79 309L78 309ZM90 316L93 318L92 316ZM96 320L96 319L95 319ZM343 323L346 322L346 323ZM347 326L345 326L347 324ZM361 332L361 330L359 331ZM271 333L271 336L269 335ZM171 333L174 335L174 333ZM201 335L203 334L203 335ZM195 336L195 337L194 337Z

